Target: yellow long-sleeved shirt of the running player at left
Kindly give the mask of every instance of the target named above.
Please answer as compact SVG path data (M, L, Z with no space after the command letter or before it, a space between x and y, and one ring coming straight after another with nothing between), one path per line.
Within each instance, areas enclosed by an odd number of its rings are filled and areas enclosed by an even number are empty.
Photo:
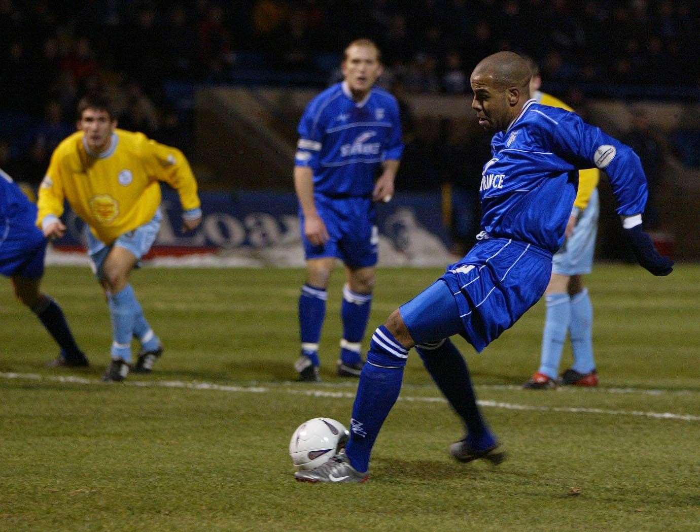
M160 206L161 181L178 191L183 210L200 207L195 176L179 149L116 129L110 148L94 155L83 132L75 132L51 156L39 187L36 223L41 227L45 217L61 216L68 200L94 236L110 245L151 221Z

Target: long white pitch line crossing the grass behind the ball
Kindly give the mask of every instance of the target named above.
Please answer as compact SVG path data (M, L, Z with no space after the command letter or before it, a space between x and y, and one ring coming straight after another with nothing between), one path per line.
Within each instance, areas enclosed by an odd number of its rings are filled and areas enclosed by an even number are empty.
M28 381L50 381L70 384L98 384L111 386L97 379L83 378L76 376L42 376L34 373L9 373L1 372L0 378L20 379ZM239 393L274 393L283 392L290 395L305 395L307 397L330 397L332 399L354 399L355 394L349 392L328 392L325 390L302 390L294 388L276 388L267 386L228 386L214 383L197 383L186 381L125 381L113 386L132 386L135 388L185 388L188 390L215 390L220 392ZM446 403L442 397L410 397L400 396L399 401L404 402L425 402L425 403ZM642 416L656 419L675 419L679 421L700 421L700 416L692 414L672 414L671 412L645 412L638 410L608 410L601 408L587 407L543 407L531 404L514 404L499 401L479 400L479 406L489 408L500 408L505 410L528 410L540 412L567 412L569 414L606 414L609 416Z

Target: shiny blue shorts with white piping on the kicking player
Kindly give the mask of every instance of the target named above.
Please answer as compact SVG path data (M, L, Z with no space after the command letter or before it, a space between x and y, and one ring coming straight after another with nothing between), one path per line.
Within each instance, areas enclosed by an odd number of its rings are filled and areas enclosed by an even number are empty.
M483 240L399 310L416 343L461 334L481 352L537 303L551 275L547 250L506 238Z

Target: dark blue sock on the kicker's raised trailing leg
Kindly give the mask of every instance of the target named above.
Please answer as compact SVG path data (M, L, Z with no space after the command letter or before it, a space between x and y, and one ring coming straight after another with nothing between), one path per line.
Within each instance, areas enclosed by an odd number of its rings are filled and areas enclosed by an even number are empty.
M450 339L416 346L430 376L467 430L472 449L486 449L496 443L477 405L467 363Z

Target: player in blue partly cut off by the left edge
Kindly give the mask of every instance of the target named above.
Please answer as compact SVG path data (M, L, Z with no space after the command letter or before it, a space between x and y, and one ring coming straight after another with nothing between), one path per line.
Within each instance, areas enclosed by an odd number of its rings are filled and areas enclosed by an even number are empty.
M36 205L0 170L0 274L10 278L17 299L36 314L61 348L49 365L87 366L61 307L39 290L48 240L34 225L35 220Z

